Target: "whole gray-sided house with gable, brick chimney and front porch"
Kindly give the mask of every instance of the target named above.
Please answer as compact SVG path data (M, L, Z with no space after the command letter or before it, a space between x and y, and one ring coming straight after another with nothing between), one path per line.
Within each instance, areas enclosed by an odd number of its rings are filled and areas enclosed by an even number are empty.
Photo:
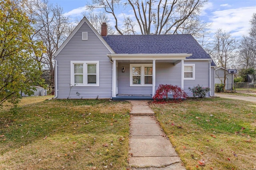
M56 51L55 98L152 99L160 84L214 95L215 64L191 35L106 33L106 23L100 35L83 18Z

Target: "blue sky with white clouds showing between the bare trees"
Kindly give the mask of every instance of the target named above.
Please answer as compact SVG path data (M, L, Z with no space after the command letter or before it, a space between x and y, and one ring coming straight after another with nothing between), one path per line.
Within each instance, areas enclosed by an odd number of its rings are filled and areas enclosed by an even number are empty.
M90 1L49 0L49 2L59 4L66 16L82 19L82 13L86 11L86 2ZM128 14L128 11L123 13ZM212 23L210 29L212 33L221 28L231 32L233 37L241 38L242 35L248 35L249 21L253 13L256 13L256 0L209 0L203 8L201 17L204 22Z

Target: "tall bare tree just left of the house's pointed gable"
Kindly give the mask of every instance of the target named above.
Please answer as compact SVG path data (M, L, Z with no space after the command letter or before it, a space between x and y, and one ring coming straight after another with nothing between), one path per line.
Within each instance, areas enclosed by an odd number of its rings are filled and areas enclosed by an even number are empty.
M30 18L35 29L31 38L42 41L44 46L44 53L42 56L36 56L36 60L42 63L44 71L49 71L50 86L54 86L53 54L70 33L69 18L63 15L63 9L60 6L49 4L48 0L28 0L27 8L31 12Z

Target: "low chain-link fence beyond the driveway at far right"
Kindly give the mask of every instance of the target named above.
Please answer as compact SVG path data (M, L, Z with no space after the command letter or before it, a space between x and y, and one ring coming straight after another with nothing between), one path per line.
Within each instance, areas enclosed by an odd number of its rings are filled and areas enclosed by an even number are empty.
M215 84L215 92L234 91L240 93L255 93L256 83L239 82L234 84Z

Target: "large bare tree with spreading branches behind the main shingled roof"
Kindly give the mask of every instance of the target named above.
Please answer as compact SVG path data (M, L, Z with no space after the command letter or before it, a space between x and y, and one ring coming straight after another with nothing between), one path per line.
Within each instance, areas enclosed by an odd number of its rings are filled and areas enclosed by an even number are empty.
M120 8L122 11L126 8L133 11L136 26L140 28L141 34L179 34L185 30L187 34L191 34L189 30L193 30L193 34L201 34L207 24L199 22L198 15L206 2L207 0L127 0L122 4L121 0L92 0L88 8L103 8L112 14L119 34L124 34L124 30L134 30L130 29L134 28L133 24L129 24L132 22L127 22L131 21L129 16L124 16L126 28L122 29L118 24L120 21L116 11ZM197 24L192 24L196 21ZM191 26L194 29L191 29Z

